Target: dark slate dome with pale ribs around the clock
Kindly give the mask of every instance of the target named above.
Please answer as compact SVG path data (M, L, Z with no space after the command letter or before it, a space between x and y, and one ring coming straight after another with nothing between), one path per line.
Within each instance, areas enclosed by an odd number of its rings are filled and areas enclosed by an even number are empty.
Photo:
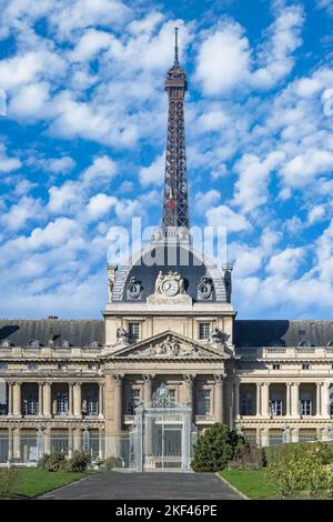
M155 281L159 272L178 272L184 280L185 292L193 301L226 302L228 291L224 275L221 271L194 249L185 244L150 244L143 249L134 259L121 267L115 275L113 287L113 302L144 302L154 293ZM206 278L212 285L209 299L203 299L198 290ZM133 282L140 284L140 297L131 298L129 287Z

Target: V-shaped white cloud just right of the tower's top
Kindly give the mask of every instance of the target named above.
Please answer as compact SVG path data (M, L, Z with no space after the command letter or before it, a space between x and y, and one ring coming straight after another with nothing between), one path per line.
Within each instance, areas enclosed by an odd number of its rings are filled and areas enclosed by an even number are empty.
M222 24L199 48L195 78L205 94L221 94L243 84L260 89L275 86L294 66L293 52L302 43L303 23L300 7L281 9L258 49L251 49L239 23Z

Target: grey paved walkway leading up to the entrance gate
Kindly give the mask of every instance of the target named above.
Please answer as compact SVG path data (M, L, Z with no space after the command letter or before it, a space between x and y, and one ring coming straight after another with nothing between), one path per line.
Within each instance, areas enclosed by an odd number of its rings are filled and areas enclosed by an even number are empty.
M242 498L214 473L98 473L50 491L43 500L219 500Z

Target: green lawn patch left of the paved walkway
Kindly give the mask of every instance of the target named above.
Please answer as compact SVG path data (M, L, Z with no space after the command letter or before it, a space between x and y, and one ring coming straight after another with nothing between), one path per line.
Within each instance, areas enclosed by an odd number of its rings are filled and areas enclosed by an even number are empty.
M50 472L38 468L18 469L17 472L18 481L11 495L26 498L37 496L85 475L67 471Z

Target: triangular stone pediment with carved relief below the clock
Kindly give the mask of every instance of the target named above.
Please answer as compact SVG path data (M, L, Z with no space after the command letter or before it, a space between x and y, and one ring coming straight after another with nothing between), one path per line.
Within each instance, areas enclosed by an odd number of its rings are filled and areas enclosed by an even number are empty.
M124 347L112 353L112 359L228 359L223 345L221 348L203 344L185 335L168 330L144 341Z

